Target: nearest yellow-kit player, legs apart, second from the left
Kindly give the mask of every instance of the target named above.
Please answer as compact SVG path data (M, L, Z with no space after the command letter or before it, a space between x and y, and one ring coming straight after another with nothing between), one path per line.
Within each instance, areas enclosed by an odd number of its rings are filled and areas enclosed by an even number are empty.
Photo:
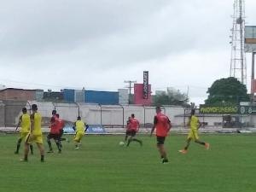
M32 104L32 114L30 116L31 128L30 132L26 136L25 150L24 150L24 159L21 161L27 161L29 145L31 143L37 143L38 149L41 154L41 162L44 162L44 146L43 146L43 134L42 134L42 116L38 113L38 106Z

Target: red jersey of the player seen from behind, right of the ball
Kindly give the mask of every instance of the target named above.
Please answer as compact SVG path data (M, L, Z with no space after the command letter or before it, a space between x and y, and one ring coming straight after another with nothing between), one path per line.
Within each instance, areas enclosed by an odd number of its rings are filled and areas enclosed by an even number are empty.
M154 125L158 137L166 137L172 127L170 119L163 113L154 116Z

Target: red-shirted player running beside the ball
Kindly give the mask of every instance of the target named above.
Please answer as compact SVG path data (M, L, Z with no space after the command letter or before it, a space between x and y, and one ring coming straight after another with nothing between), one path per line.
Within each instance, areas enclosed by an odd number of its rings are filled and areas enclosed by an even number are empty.
M134 113L131 114L131 119L129 120L129 123L127 125L127 131L126 131L126 136L128 138L128 142L126 144L126 147L129 147L131 142L137 142L140 143L141 146L143 146L143 141L134 138L136 136L137 131L140 128L140 123L137 119L135 119ZM127 140L127 137L125 137L125 141Z

